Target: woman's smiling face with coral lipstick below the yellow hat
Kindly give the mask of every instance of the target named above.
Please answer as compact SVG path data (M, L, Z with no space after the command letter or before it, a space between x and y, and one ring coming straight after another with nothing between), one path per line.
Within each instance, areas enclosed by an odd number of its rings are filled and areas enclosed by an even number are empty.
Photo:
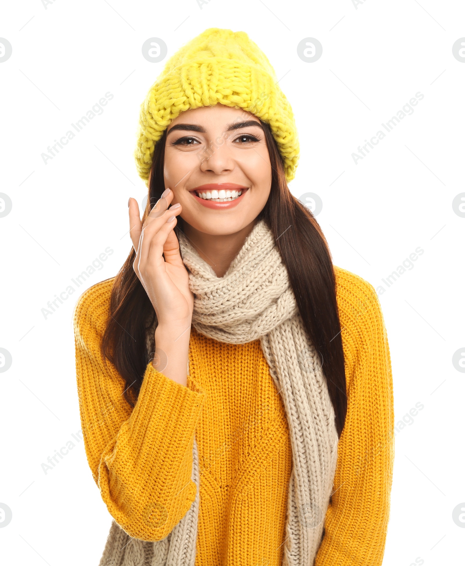
M167 130L165 187L182 219L212 235L234 234L258 216L271 188L265 132L257 117L222 104L182 112Z

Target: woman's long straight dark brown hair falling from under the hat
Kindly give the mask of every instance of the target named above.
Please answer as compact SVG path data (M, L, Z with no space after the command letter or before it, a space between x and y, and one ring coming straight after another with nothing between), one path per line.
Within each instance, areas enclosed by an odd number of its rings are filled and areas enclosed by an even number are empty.
M272 178L270 196L259 218L264 218L272 230L306 332L319 353L340 436L347 413L347 394L331 253L312 212L289 191L283 160L271 129L263 122L262 127L270 154ZM165 190L166 133L167 130L155 145L142 221ZM182 220L178 218L178 226L174 229L176 235L181 226ZM133 269L135 255L132 247L114 278L109 318L101 342L104 358L113 363L126 382L124 396L131 406L135 405L150 361L146 351L146 331L156 324L155 310Z

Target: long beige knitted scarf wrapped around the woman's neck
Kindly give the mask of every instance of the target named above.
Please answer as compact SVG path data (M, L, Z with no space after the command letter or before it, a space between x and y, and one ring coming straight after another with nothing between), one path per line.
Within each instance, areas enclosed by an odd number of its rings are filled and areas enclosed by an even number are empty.
M180 245L195 297L195 329L229 344L261 341L292 444L283 565L312 566L331 495L338 435L321 362L274 237L265 221L257 222L224 277L215 275L184 234ZM192 479L197 497L165 539L131 538L113 521L99 566L194 566L200 483L195 439Z

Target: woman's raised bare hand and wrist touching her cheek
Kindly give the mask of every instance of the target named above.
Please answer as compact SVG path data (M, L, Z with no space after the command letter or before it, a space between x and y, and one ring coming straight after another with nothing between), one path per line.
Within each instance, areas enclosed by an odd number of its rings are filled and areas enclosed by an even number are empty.
M163 364L163 358L167 358L168 369L164 371L165 367L153 365L185 385L194 295L189 289L189 273L173 230L182 207L175 204L168 208L173 197L172 190L165 190L143 225L137 201L130 198L129 224L136 251L134 271L155 309L156 352L159 351L159 363Z

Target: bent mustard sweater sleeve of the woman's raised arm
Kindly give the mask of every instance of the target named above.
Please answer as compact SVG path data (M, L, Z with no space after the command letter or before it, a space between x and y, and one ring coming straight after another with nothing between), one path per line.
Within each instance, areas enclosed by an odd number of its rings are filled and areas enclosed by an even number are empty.
M113 280L76 303L76 378L84 444L108 511L131 536L158 541L195 499L191 481L194 429L205 394L184 387L148 363L134 408L125 382L100 353Z

